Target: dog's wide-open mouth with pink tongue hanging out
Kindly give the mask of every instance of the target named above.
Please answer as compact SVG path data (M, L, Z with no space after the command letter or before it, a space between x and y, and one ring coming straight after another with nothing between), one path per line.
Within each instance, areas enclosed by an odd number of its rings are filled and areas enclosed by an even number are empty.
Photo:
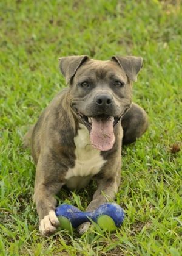
M109 116L109 115L96 115L86 116L75 109L76 114L81 119L84 126L87 127L90 133L90 142L93 148L100 151L108 151L112 149L115 143L114 127L120 123L121 116Z

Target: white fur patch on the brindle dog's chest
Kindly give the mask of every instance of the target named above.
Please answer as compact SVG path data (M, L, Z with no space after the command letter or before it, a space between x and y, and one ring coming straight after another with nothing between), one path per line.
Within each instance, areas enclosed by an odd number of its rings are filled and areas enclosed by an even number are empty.
M78 135L74 138L76 146L75 166L68 170L66 174L67 181L76 176L93 176L106 163L100 151L94 149L90 144L90 135L87 128L83 124L80 124L80 127L81 129L78 130Z

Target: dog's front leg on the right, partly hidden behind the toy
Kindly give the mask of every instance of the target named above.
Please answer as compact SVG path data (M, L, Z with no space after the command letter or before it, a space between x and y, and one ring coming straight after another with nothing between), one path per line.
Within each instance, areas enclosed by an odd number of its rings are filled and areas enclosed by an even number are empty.
M120 177L121 177L121 164L118 164L118 168L116 169L116 173L110 171L112 176L108 176L109 172L106 174L101 174L102 178L100 179L100 175L96 177L98 188L93 195L93 199L87 207L87 212L96 210L99 205L104 204L105 202L114 199L115 194L118 191L118 187L120 185ZM104 176L104 177L103 177ZM80 234L85 233L90 226L90 222L84 222L78 227L78 232Z

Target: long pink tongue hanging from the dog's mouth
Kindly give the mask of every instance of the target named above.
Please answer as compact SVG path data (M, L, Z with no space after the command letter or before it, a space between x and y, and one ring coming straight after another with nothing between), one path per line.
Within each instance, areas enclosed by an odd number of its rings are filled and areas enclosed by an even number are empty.
M92 130L90 132L90 141L93 148L101 151L112 149L115 142L115 135L113 133L113 121L111 117L108 120L99 120L91 118Z

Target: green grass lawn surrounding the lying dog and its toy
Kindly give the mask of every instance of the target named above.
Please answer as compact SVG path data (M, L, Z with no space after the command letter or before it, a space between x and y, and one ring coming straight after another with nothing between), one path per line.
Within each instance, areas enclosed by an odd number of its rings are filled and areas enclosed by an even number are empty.
M2 0L0 12L0 255L181 255L180 1ZM143 56L133 101L146 109L150 128L123 149L121 229L42 237L35 166L22 136L64 87L58 57L80 54ZM86 208L92 193L92 185L63 190L59 203Z

